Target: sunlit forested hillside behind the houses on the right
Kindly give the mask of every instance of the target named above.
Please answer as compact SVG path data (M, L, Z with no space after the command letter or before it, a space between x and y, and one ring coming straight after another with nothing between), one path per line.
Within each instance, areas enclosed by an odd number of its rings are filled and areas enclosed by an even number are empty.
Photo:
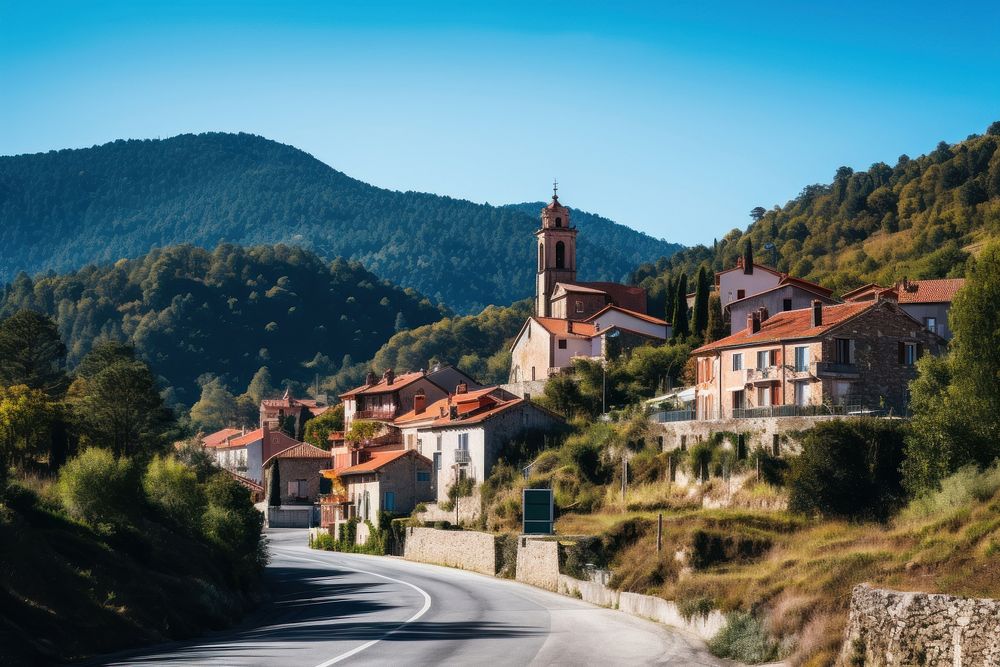
M693 276L702 264L731 267L748 239L758 262L838 292L903 277L961 277L970 255L1000 235L998 148L1000 122L927 155L901 155L894 166L841 167L832 183L806 186L784 206L755 208L745 232L643 264L631 279L658 305L668 277Z

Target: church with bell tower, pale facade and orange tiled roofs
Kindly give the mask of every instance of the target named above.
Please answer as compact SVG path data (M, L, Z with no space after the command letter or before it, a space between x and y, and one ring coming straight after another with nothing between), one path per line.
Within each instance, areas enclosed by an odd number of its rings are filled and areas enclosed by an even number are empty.
M641 287L576 279L577 232L553 188L535 231L535 314L511 345L511 384L544 381L579 357L601 360L670 337L670 324L646 314Z

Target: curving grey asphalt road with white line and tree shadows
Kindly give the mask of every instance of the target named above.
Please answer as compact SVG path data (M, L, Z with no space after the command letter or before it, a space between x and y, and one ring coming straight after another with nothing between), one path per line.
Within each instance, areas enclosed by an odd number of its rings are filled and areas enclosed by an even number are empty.
M726 664L686 633L532 586L269 537L273 599L247 624L102 664Z

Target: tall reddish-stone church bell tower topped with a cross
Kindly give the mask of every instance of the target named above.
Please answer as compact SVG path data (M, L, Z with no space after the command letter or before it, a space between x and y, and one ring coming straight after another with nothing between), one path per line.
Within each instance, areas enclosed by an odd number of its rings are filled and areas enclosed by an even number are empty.
M535 315L551 317L556 283L576 282L576 228L570 226L569 209L559 203L559 184L552 184L552 201L542 209L538 240L538 273L535 277Z

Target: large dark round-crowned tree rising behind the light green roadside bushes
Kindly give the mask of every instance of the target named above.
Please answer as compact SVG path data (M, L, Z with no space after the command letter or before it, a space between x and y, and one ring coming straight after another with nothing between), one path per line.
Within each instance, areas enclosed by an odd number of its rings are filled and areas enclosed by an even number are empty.
M81 366L88 375L78 375L67 396L87 443L110 447L119 456L162 449L173 416L149 367L136 359L107 359L110 363L99 368L85 358Z

